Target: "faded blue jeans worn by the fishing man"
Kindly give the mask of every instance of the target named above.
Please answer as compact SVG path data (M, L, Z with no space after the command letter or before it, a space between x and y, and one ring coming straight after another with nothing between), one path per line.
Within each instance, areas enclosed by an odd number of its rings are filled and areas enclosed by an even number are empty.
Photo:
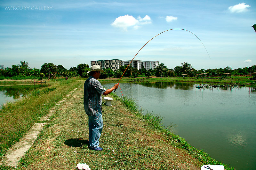
M100 144L100 135L103 129L103 120L101 112L96 112L94 115L89 117L89 147L96 148Z

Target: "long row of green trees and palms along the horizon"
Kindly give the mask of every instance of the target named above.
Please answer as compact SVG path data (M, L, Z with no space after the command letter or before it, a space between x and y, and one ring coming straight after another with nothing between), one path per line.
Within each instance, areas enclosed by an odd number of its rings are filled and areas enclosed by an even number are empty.
M146 70L144 67L141 69L133 68L131 65L121 66L120 69L113 71L112 69L103 69L104 72L100 78L121 78L124 77L181 77L183 74L189 74L190 77L196 76L199 73L206 73L207 76L220 76L222 73L233 73L233 75L248 75L249 73L256 72L256 65L251 67L244 67L232 70L227 66L224 69L201 69L196 70L189 63L181 63L180 66L174 69L168 69L164 63L160 63L156 69ZM125 71L126 69L126 71ZM5 68L0 70L0 79L43 79L43 78L56 78L56 77L82 77L87 78L87 72L90 71L89 65L86 63L78 64L77 67L71 67L69 70L62 65L54 65L53 63L44 63L41 69L30 68L28 62L20 61L20 64L12 65L12 68ZM124 72L125 71L125 72Z

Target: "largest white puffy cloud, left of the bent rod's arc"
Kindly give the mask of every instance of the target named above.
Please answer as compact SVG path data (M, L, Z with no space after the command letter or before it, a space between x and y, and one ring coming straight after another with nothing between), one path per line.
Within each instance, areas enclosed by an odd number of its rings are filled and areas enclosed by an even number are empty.
M119 27L124 31L127 31L127 28L130 26L133 26L134 29L139 29L140 26L138 25L145 25L145 24L151 24L151 23L152 23L152 20L148 15L146 15L144 18L141 18L139 16L137 19L135 19L131 15L124 15L116 18L115 21L111 24L111 26Z

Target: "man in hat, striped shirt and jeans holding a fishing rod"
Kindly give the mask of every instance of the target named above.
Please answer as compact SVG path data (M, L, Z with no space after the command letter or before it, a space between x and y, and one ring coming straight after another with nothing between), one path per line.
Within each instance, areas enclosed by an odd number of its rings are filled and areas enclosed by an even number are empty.
M101 71L99 65L93 65L87 73L89 78L84 82L84 111L88 115L89 126L89 149L94 151L102 151L99 147L100 135L103 129L103 120L101 113L102 98L101 94L107 95L118 88L118 84L106 90L97 80Z

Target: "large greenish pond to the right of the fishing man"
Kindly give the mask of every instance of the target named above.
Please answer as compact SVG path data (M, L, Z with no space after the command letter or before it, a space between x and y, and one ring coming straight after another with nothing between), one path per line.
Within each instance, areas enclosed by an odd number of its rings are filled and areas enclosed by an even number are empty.
M115 83L102 83L110 88ZM174 134L236 169L256 169L256 89L198 89L193 83L120 83L138 107L176 124ZM121 97L120 89L116 90Z

